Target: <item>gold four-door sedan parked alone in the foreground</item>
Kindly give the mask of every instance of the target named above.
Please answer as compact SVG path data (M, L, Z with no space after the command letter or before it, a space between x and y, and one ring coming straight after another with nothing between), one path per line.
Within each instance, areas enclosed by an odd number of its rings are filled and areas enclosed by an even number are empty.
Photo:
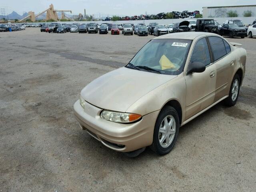
M202 32L154 38L126 66L83 88L74 115L108 148L167 154L180 126L221 101L236 104L246 65L238 45Z

